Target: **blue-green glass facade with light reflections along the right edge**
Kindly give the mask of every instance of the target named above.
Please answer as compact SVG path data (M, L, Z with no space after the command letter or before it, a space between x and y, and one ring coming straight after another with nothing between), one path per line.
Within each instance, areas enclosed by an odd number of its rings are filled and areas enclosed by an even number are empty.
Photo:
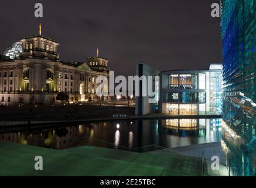
M221 1L222 148L232 174L256 175L256 0Z

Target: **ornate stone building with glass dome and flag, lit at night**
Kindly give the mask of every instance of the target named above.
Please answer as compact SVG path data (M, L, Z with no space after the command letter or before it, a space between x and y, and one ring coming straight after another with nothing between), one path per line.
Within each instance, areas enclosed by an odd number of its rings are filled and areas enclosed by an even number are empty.
M69 102L98 100L96 78L109 78L108 60L99 56L85 62L64 62L59 43L42 35L26 36L0 58L1 104L51 104L58 92ZM104 88L108 92L108 88ZM106 98L105 98L106 99Z

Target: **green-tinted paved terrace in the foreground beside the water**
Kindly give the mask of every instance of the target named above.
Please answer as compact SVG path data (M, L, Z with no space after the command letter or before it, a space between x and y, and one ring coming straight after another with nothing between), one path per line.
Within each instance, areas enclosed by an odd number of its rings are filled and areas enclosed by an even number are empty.
M44 170L34 169L35 156ZM0 176L200 176L201 158L162 150L135 153L102 147L46 149L0 141Z

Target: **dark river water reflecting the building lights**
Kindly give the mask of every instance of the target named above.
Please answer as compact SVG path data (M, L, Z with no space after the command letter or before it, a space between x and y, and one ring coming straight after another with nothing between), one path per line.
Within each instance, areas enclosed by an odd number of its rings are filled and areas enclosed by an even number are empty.
M33 130L2 129L0 140L53 149L92 145L140 152L153 149L135 148L149 145L172 148L219 142L221 119L138 120Z

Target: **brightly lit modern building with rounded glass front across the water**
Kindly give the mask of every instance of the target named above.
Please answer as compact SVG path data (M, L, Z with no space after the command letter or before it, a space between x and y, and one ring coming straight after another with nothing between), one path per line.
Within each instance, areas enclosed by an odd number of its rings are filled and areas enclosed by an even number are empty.
M221 65L160 73L159 110L169 115L221 114Z

